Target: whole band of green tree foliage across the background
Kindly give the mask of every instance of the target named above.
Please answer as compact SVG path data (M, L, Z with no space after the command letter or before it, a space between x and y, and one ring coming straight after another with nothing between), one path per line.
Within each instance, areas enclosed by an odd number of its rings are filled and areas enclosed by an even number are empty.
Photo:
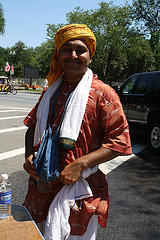
M95 10L76 7L66 15L65 24L83 23L93 30L97 49L90 67L101 80L110 84L160 66L159 1L133 2L133 6L101 2ZM4 69L6 61L10 64L13 61L15 77L24 76L25 66L33 66L39 67L40 77L45 78L55 49L55 34L65 24L48 24L47 40L36 48L27 48L21 41L12 48L0 47L0 69ZM14 57L10 55L13 50Z

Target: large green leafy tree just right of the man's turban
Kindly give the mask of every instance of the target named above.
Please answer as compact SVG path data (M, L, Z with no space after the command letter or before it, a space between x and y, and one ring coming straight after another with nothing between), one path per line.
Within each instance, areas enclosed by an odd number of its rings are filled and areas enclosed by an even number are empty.
M133 70L143 71L146 70L146 66L151 69L151 66L153 67L151 60L154 61L152 52L150 47L149 49L146 47L148 43L144 37L132 26L132 8L129 5L117 7L112 2L101 2L99 6L94 11L84 11L77 7L67 14L68 23L85 23L96 36L97 50L91 63L93 71L104 82L112 84L113 81L124 80L133 73ZM134 52L135 62L140 62L142 57L139 53L142 53L142 48L144 50L142 56L149 54L151 57L146 58L148 62L145 68L141 64L137 69L134 59L128 56L128 49L130 53Z

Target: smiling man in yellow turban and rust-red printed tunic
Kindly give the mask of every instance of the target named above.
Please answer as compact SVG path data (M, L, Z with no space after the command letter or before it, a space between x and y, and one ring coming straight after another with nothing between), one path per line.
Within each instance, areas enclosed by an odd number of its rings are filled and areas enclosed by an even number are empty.
M108 183L98 165L132 153L128 123L116 92L88 68L96 51L92 30L84 24L66 25L56 33L55 45L47 76L49 87L24 119L28 127L24 169L30 174L24 206L42 229L49 206L63 186L74 186L85 170L97 166L97 171L85 179L93 195L80 200L77 211L70 210L68 238L95 240L97 223L106 227L109 210ZM41 192L33 160L48 126L47 119L60 83L52 119L53 133L60 123L66 100L74 90L73 101L69 103L72 112L66 111L69 123L64 124L59 138L59 177L44 184L47 190ZM43 126L42 121L45 122Z

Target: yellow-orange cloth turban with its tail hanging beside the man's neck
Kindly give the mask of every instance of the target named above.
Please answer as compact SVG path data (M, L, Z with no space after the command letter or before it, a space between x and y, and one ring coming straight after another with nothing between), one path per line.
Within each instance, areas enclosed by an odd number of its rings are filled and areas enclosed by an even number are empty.
M91 29L84 24L69 24L58 30L55 35L56 50L50 64L50 71L47 76L48 85L51 85L62 73L63 70L59 65L58 52L61 46L70 39L84 39L87 47L90 49L91 57L93 57L96 50L96 38Z

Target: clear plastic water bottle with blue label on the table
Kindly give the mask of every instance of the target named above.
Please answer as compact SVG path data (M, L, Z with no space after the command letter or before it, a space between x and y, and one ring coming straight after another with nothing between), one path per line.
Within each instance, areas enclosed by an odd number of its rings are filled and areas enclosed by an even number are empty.
M0 181L0 219L9 218L11 215L11 183L8 174L1 175Z

